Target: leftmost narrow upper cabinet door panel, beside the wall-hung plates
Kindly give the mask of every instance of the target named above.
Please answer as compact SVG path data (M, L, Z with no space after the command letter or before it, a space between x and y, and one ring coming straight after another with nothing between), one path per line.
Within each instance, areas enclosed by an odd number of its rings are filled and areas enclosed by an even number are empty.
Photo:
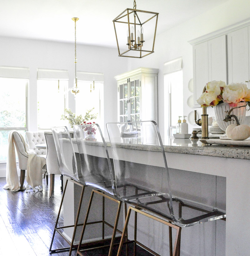
M193 46L193 74L194 107L200 107L197 99L201 96L206 83L209 82L207 41Z

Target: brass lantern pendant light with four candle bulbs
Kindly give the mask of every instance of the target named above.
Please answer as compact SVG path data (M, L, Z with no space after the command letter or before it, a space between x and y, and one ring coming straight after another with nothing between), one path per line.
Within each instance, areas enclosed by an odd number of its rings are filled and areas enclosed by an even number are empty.
M127 8L113 19L119 56L142 58L154 52L158 14L138 10L134 1L133 9Z

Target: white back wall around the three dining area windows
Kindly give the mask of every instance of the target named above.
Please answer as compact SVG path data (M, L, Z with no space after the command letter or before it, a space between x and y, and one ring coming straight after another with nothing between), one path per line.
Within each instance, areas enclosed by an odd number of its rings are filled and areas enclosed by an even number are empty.
M30 68L30 131L37 130L37 68L68 70L69 87L72 87L74 50L73 43L0 37L0 65ZM117 84L114 76L127 71L127 59L119 58L117 49L79 44L77 59L77 70L104 73L104 122L117 121ZM71 93L68 96L69 108L74 111L74 97Z

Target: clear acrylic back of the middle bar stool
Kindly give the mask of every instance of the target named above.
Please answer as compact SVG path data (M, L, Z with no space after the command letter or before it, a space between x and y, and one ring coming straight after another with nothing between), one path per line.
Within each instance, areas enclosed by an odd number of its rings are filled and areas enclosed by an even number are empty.
M113 173L108 149L98 124L73 126L85 184L113 195Z

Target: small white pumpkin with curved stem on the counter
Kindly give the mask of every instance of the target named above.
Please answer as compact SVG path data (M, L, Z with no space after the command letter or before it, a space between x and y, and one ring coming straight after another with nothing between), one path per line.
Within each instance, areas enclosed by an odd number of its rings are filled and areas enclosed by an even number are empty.
M234 141L243 141L250 136L250 127L248 125L228 125L226 136Z

